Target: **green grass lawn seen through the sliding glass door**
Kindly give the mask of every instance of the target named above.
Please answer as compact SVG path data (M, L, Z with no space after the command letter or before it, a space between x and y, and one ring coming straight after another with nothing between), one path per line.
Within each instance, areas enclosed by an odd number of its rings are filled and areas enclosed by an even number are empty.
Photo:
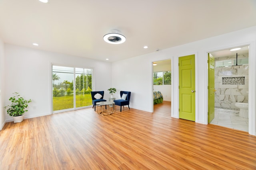
M53 97L53 111L73 108L74 96ZM92 105L91 94L76 95L76 107Z

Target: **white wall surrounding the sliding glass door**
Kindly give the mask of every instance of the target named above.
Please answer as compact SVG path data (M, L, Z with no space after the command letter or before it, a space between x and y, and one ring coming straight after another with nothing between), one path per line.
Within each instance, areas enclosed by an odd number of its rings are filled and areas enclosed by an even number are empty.
M107 99L107 90L111 87L111 63L40 51L15 45L5 44L5 98L4 105L8 105L9 98L14 92L19 92L25 99L32 99L25 119L49 115L51 109L51 63L63 66L74 66L93 69L93 90L104 90ZM6 112L5 112L6 114ZM7 121L12 117L6 114Z

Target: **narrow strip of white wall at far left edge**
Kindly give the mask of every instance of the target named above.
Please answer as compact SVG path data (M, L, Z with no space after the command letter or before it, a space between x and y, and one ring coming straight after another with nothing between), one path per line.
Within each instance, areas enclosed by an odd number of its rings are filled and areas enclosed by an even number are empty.
M4 127L4 42L0 39L0 130Z

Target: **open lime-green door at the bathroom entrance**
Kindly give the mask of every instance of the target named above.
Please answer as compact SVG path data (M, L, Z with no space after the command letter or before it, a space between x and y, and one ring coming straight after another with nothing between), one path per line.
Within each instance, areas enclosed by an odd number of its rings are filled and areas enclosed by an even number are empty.
M214 119L214 57L208 53L208 123Z

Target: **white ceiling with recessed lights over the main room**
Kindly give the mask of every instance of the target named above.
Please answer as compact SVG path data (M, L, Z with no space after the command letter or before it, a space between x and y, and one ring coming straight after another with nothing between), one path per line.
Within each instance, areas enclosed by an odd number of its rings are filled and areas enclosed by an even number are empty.
M251 27L255 18L256 0L0 0L0 39L114 62ZM103 41L112 29L126 42Z

